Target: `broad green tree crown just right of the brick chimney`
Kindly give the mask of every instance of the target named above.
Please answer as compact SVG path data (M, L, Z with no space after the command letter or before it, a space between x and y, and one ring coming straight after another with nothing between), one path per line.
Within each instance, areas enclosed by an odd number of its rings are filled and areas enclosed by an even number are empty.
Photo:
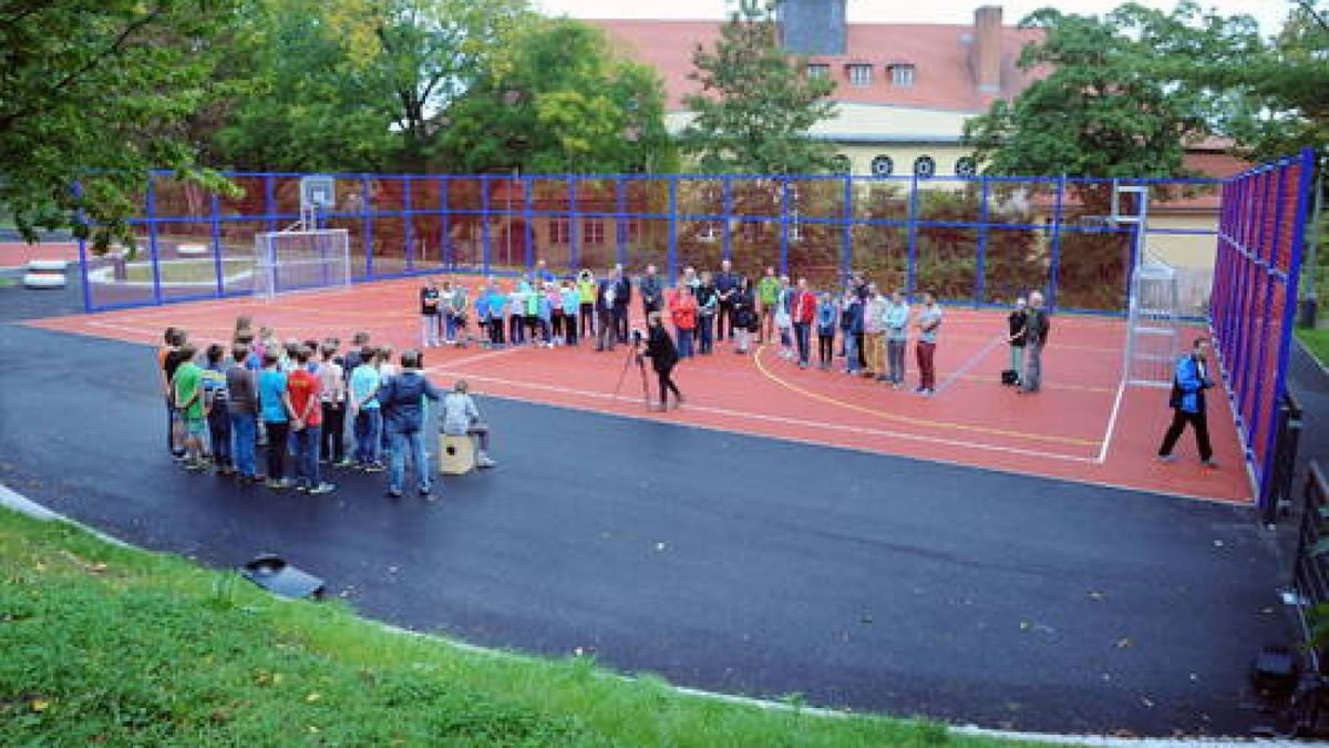
M966 124L987 173L1179 176L1187 138L1211 130L1223 97L1176 63L1259 49L1253 21L1201 16L1191 3L1172 13L1128 3L1104 17L1042 9L1022 25L1045 37L1025 48L1019 67L1047 76Z

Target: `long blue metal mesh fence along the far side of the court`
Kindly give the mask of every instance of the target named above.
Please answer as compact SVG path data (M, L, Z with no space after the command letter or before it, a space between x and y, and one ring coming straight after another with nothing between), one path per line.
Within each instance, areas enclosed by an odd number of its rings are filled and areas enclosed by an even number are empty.
M254 234L300 220L299 173L227 174L239 197L169 173L145 185L133 258L81 248L89 311L253 290ZM731 260L835 287L851 270L975 306L1042 289L1063 310L1122 313L1135 226L1106 221L1114 182L1047 177L738 174L328 174L319 225L351 236L358 281L423 273L558 273ZM1135 180L1154 200L1217 180ZM1212 200L1216 208L1216 200ZM1213 236L1204 228L1155 234Z

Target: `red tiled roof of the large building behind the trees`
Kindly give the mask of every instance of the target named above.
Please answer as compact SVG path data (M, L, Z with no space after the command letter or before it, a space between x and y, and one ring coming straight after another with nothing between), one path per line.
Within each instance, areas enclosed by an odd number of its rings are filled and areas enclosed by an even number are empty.
M598 19L587 20L603 28L619 49L642 63L654 65L664 79L667 108L683 109L683 96L698 93L696 83L687 80L692 72L692 51L698 44L710 48L720 36L722 21L662 21ZM1037 40L1039 29L1002 27L1001 91L978 89L971 51L975 31L971 25L948 24L849 24L845 55L817 56L809 61L831 65L836 81L836 101L920 106L953 112L985 112L998 96L1013 97L1039 77L1038 71L1015 68L1019 52ZM849 85L849 63L872 63L870 87ZM912 87L890 84L886 65L914 65Z

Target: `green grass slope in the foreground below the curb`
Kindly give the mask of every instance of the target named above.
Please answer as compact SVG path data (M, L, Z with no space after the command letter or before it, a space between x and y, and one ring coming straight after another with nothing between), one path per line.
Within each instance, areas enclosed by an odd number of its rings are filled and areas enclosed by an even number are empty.
M465 651L3 508L0 652L4 745L1014 745Z

